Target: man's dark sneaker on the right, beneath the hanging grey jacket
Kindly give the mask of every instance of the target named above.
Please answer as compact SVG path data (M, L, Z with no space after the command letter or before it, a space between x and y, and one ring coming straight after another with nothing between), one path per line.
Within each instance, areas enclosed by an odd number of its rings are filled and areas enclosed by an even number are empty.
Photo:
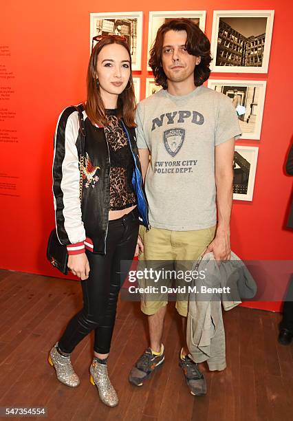
M204 374L199 371L197 363L195 363L187 355L181 358L180 367L183 369L186 383L194 396L203 396L206 394L206 378Z

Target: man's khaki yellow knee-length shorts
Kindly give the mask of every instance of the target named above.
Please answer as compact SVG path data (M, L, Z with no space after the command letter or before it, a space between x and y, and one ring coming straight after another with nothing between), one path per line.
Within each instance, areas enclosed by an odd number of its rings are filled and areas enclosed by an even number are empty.
M193 263L204 252L208 244L215 237L216 226L195 231L171 231L162 228L151 228L146 232L144 226L140 226L140 237L144 244L144 252L138 257L139 268L152 267L160 270L166 264L172 264L175 270L191 270ZM148 266L149 261L149 266ZM156 264L155 264L156 263ZM164 280L164 285L172 283L172 280ZM182 281L185 282L185 281ZM181 282L181 285L182 285ZM146 288L147 285L154 285L149 279L138 280L140 288ZM158 283L156 284L158 286ZM180 281L175 280L175 286L180 286ZM154 296L154 295L153 295ZM144 314L151 316L168 303L168 293L155 294L152 299L151 294L141 294L141 310ZM177 312L181 316L187 316L188 294L182 299L176 301Z

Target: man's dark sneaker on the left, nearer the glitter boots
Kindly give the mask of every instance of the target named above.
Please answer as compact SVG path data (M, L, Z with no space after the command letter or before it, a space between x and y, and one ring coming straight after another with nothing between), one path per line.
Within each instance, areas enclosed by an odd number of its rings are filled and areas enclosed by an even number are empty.
M142 386L144 380L149 378L153 371L160 367L164 363L165 354L164 354L164 345L161 346L161 354L153 355L151 348L147 348L144 351L144 354L138 358L133 369L129 374L129 382L131 385Z

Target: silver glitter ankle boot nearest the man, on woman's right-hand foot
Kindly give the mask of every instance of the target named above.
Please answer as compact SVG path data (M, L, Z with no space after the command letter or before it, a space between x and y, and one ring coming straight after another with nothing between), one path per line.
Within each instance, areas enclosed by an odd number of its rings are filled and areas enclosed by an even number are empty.
M118 405L118 396L110 382L107 364L100 364L94 359L91 367L89 367L89 372L91 374L91 384L98 387L100 400L108 407L116 407Z

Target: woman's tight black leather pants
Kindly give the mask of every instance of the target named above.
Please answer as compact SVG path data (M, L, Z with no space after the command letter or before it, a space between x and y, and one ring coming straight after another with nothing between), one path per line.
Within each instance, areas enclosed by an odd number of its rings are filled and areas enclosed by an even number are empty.
M138 227L138 212L135 208L124 217L109 221L106 255L86 251L90 272L89 278L81 281L83 309L69 321L58 341L61 352L72 352L94 330L94 351L99 354L109 353L118 294L124 281L120 275L120 261L133 259Z

